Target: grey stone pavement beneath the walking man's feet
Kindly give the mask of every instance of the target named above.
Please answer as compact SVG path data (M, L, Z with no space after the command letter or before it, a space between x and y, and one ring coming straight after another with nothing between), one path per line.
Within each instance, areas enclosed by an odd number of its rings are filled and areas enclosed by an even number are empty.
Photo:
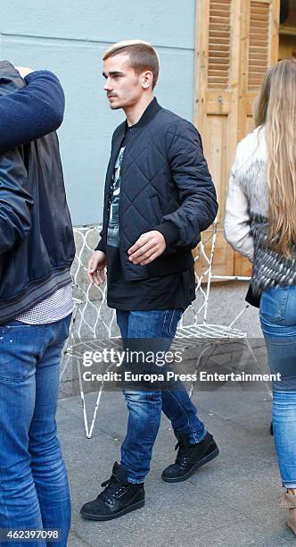
M242 286L233 290L229 300L229 290L217 290L220 319L221 313L233 314L242 306L244 292ZM256 309L248 310L241 321L252 337L260 336ZM71 547L296 543L284 524L286 510L278 507L283 489L269 434L272 403L266 391L247 391L241 385L230 390L224 385L215 391L195 391L193 402L218 442L218 459L184 483L161 481L162 469L176 456L175 437L162 417L145 483L144 509L98 523L81 518L79 508L96 497L113 462L119 460L127 424L125 403L119 392L103 393L93 438L86 439L79 396L59 400L58 430L72 497ZM86 403L93 411L95 393L86 395Z

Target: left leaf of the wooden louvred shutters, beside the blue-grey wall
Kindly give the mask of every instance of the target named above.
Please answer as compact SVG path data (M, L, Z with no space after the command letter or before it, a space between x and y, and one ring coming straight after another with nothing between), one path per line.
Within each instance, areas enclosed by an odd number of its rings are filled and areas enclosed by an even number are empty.
M218 194L215 273L234 271L234 252L223 237L226 184L237 130L240 0L197 0L195 119Z

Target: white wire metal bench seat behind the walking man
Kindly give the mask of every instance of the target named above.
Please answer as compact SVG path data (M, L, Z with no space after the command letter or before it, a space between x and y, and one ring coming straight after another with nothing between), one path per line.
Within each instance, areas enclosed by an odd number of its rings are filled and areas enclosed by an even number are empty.
M87 262L93 252L93 248L95 248L95 243L98 240L99 228L97 226L75 228L74 233L77 254L72 267L72 274L76 307L72 316L70 337L63 352L61 379L63 379L67 368L70 366L70 361L73 365L73 360L75 359L75 367L77 366L78 370L78 386L82 401L86 437L91 438L102 398L104 382L101 383L97 392L95 409L89 424L86 412L86 395L81 372L81 355L83 350L100 349L100 343L102 343L103 349L103 346L105 345L104 340L106 340L106 338L108 338L108 344L111 347L119 348L120 337L115 320L115 310L111 310L106 304L106 286L103 286L103 288L90 286L87 281ZM203 261L204 264L201 273L197 271L197 269L195 270L195 293L199 298L197 299L197 302L193 302L193 304L185 310L185 314L182 316L180 324L177 327L173 345L176 346L181 344L183 347L187 347L196 344L196 342L202 342L201 352L195 366L197 371L201 363L201 358L212 345L215 346L215 344L217 345L217 343L221 342L229 343L229 341L240 341L250 351L251 358L260 370L258 359L251 348L246 332L234 328L234 325L249 307L249 304L243 306L240 313L237 314L233 321L228 325L209 324L207 322L210 285L213 280L250 281L249 277L220 276L212 273L216 239L217 221L212 224L212 229L210 231L203 234L202 240L197 248L195 263L197 264ZM190 320L190 317L193 317L193 319ZM193 384L191 385L190 396L192 393Z

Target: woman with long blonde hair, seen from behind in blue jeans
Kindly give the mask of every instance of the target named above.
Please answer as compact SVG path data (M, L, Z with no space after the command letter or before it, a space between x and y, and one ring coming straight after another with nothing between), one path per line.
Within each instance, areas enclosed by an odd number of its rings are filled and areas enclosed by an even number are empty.
M275 449L286 488L281 506L296 534L296 61L266 74L256 129L236 149L226 201L226 240L253 263L273 384Z

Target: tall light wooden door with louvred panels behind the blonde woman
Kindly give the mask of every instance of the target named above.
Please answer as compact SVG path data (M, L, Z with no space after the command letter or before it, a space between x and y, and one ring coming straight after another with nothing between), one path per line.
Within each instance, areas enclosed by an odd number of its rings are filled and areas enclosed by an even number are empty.
M194 122L218 193L219 275L251 273L223 236L234 151L252 129L251 109L267 68L277 60L279 0L197 0Z

